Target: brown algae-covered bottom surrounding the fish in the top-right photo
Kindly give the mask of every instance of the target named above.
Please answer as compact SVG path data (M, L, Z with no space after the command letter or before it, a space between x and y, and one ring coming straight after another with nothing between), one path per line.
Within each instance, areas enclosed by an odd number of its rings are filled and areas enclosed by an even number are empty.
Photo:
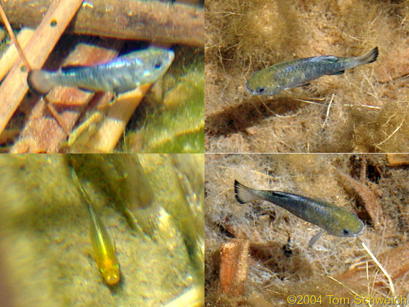
M407 2L211 0L205 7L206 152L408 151ZM246 91L246 81L271 65L375 46L375 62L345 74L272 97Z

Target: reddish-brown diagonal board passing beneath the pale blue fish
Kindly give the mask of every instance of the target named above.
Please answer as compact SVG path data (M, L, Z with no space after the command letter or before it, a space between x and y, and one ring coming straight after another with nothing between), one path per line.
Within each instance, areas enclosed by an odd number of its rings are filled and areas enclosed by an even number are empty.
M110 42L110 48L80 43L65 59L63 65L93 65L97 62L106 62L118 55L122 46L119 42ZM84 92L73 87L54 87L47 99L54 103L60 118L66 127L71 130L84 111L94 93ZM104 93L97 98L109 102L112 94ZM65 104L57 104L64 102ZM93 104L95 106L95 103ZM66 138L66 133L60 123L50 115L43 98L34 105L20 138L13 145L10 152L57 152L59 145Z

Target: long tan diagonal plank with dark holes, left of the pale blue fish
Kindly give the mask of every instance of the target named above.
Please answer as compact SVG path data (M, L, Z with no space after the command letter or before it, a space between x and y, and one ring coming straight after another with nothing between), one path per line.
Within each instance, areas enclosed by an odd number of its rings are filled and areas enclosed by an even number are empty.
M24 52L33 69L40 69L59 37L74 17L82 0L54 0ZM25 10L22 10L25 11ZM20 59L0 86L0 134L26 95L28 70Z

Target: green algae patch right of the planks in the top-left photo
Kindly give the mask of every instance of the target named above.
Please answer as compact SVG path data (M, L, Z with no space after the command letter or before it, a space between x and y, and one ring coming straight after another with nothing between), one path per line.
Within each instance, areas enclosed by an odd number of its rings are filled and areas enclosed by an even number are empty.
M123 149L138 152L200 153L205 151L205 69L200 50L180 49L179 65L164 79L163 103L147 105L137 127L125 132ZM152 96L148 100L152 101ZM125 149L126 148L126 149Z

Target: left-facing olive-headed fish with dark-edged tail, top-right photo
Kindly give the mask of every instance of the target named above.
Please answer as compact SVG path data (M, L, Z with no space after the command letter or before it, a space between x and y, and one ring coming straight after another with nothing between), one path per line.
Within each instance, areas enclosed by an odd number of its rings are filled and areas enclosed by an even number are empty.
M280 62L256 72L245 87L252 95L273 96L282 90L309 85L309 81L324 75L343 74L346 69L372 63L377 57L378 47L358 57L322 55Z

